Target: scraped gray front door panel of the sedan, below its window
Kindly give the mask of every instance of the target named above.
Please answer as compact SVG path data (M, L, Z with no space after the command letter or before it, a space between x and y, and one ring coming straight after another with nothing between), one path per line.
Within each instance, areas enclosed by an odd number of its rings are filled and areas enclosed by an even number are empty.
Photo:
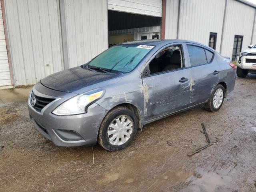
M191 75L182 69L143 78L146 120L190 106Z

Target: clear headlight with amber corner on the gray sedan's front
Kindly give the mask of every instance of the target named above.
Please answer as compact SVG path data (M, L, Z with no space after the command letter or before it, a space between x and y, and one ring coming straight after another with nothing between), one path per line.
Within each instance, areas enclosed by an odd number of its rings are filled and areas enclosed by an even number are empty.
M85 113L86 106L100 98L102 94L103 90L92 94L80 94L62 103L52 113L56 115L75 115Z

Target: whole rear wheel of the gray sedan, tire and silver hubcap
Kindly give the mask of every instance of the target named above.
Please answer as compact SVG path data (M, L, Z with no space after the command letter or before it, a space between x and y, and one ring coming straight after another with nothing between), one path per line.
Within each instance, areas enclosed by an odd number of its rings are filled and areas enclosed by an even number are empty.
M221 84L218 84L214 88L208 102L204 104L204 108L210 112L218 111L223 104L224 94L225 94L224 87Z

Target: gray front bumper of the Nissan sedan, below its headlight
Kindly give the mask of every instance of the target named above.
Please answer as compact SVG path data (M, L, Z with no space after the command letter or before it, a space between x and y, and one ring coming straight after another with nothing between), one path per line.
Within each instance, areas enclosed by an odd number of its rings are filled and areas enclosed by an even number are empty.
M35 87L33 88L34 94L39 94L44 97L49 96L38 92ZM49 93L50 89L47 90L47 92ZM52 90L52 92L56 91ZM56 95L58 95L58 93ZM84 114L71 116L57 116L52 114L52 111L57 106L74 95L73 93L66 93L66 95L62 95L62 97L56 97L56 100L46 105L41 112L32 107L29 98L28 111L30 119L35 128L57 146L73 147L94 145L97 142L98 129L107 110L93 103Z

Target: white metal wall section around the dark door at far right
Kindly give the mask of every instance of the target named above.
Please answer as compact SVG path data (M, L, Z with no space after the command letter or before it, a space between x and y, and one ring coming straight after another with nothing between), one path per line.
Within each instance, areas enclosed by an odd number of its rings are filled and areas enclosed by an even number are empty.
M251 44L255 8L238 1L228 0L222 42L222 55L232 58L234 36L244 36L242 50Z

